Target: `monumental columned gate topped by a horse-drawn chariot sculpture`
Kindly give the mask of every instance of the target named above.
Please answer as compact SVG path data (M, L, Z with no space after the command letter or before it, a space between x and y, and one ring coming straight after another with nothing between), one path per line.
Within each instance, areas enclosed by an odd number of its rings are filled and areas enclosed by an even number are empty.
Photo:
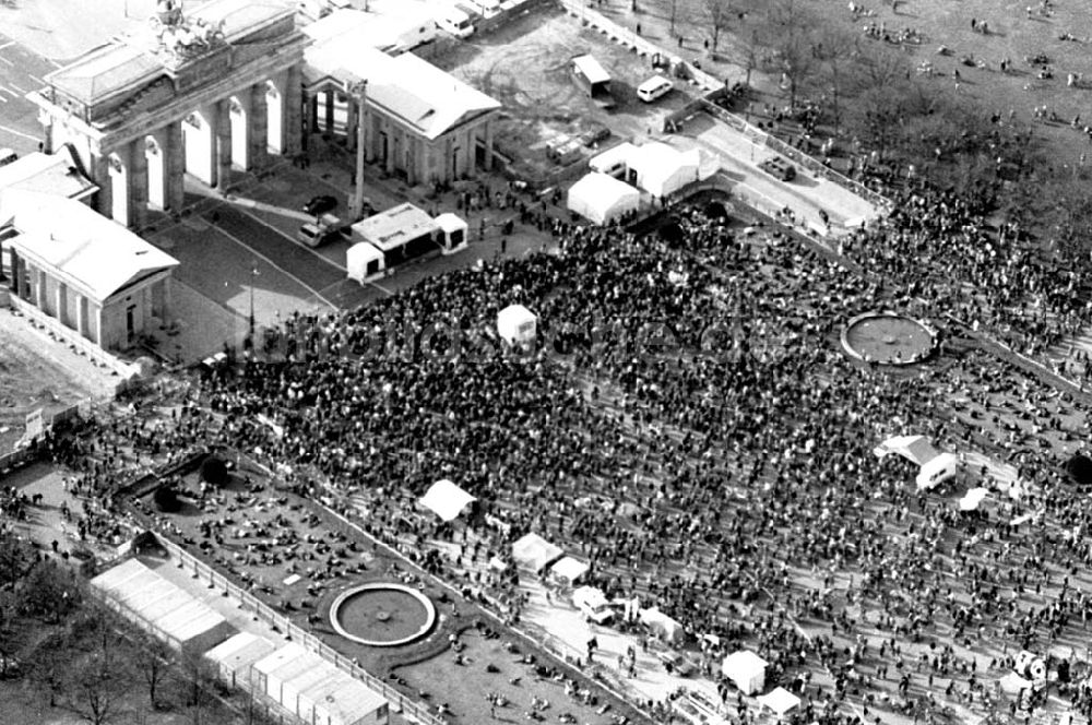
M98 186L95 209L133 228L178 212L185 175L217 189L232 169L298 153L310 39L276 0L161 0L144 37L93 50L27 94L46 151L71 144Z

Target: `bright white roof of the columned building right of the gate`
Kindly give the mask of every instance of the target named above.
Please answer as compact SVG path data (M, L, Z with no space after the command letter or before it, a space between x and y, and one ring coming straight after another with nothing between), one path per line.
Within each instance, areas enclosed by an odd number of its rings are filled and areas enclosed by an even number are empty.
M413 54L392 58L369 45L363 31L317 41L307 49L308 84L333 79L345 87L367 81L367 104L426 139L438 139L464 119L500 103Z

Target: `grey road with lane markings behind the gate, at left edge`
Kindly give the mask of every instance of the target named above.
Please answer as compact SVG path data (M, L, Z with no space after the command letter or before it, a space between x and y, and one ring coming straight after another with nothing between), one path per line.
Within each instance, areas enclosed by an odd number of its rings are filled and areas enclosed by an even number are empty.
M38 108L24 96L45 85L41 80L57 64L0 35L0 147L20 155L38 150L44 139Z

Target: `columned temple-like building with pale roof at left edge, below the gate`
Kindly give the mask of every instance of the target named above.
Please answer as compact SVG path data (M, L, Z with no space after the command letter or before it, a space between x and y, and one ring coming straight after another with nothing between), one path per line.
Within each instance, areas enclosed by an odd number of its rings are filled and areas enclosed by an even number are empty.
M15 189L3 192L0 217L11 295L26 312L105 350L170 322L178 261L132 231L79 200Z

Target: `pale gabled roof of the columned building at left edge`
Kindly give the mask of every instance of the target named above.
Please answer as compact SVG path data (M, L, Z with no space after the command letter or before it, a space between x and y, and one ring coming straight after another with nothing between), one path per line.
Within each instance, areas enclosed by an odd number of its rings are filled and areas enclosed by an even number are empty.
M0 224L20 234L9 245L102 302L131 283L178 265L178 260L73 199L9 189Z

